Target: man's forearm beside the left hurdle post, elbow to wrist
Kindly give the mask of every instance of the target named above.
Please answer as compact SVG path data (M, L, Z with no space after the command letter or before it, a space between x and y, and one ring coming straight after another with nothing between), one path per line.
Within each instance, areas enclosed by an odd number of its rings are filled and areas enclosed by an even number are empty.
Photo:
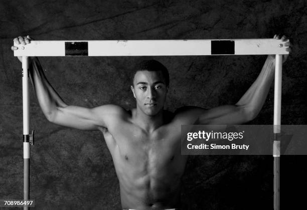
M31 58L30 79L41 109L47 119L50 120L53 117L58 107L67 106L48 82L37 58Z

